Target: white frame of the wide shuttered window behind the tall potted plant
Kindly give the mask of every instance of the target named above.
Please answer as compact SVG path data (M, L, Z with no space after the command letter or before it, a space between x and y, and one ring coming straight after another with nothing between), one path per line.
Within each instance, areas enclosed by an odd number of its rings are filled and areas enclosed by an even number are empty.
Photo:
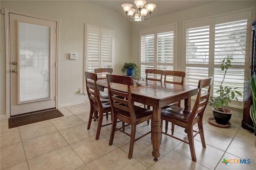
M190 20L190 21L185 21L183 22L183 41L182 41L182 70L186 70L186 66L189 64L186 64L186 24L190 24L189 28L197 28L197 27L202 27L206 26L207 24L210 26L210 44L209 44L209 64L203 65L203 64L198 64L200 65L199 67L208 67L209 72L208 72L208 77L214 76L214 68L219 67L219 65L214 65L214 36L215 36L215 25L218 25L220 23L227 23L227 22L234 22L238 20L244 20L247 19L247 32L246 32L246 55L245 55L245 65L244 65L244 80L247 79L246 75L249 75L249 58L250 58L250 38L251 38L251 31L250 31L250 21L252 20L252 12L253 8L248 8L244 10L239 10L236 12L231 12L227 14L221 14L218 16L212 16L208 18L201 18L197 20ZM244 14L241 16L241 14ZM246 17L245 17L246 16ZM220 21L221 20L221 21ZM207 23L207 24L206 24ZM211 40L213 38L213 40ZM196 67L196 64L194 65ZM236 66L234 65L234 68ZM185 81L186 82L186 81ZM211 87L211 92L210 95L213 95L213 86ZM238 108L238 109L243 109L243 102L242 101L232 101L229 105L230 107Z

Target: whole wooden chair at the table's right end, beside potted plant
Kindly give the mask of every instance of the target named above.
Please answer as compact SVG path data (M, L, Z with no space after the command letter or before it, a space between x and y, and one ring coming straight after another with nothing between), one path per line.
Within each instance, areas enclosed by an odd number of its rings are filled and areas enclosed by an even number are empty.
M196 152L194 148L194 137L199 133L202 146L206 148L205 140L204 140L204 129L203 129L203 115L204 110L207 106L209 95L210 95L210 87L212 85L213 77L209 77L206 79L201 79L198 82L198 95L196 97L196 101L194 103L194 107L192 111L183 109L178 106L171 106L167 109L161 111L162 120L169 121L178 125L180 127L185 128L186 133L188 135L188 142L178 138L174 135L170 135L166 132L162 132L170 137L176 138L182 142L189 144L191 157L194 162L196 162ZM208 88L207 91L202 89ZM162 122L161 122L162 123ZM193 126L197 123L197 130L193 130ZM162 124L161 124L162 126Z

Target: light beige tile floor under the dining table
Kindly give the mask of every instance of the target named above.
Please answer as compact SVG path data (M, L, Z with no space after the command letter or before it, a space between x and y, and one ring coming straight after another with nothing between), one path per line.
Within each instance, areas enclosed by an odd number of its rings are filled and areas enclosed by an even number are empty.
M108 145L111 126L102 127L99 140L95 140L97 122L87 130L89 103L59 109L64 117L8 128L8 120L1 120L1 170L255 170L256 148L252 132L241 127L241 122L230 128L210 125L204 114L206 148L200 136L195 138L197 162L190 156L189 145L168 136L162 136L160 158L154 162L151 155L150 134L135 142L133 158L128 159L130 137L116 132L114 144ZM110 119L109 119L110 121ZM108 121L108 122L109 122ZM106 123L106 119L104 118ZM195 127L196 128L196 127ZM127 131L130 128L126 128ZM150 126L137 127L140 136ZM179 137L186 139L182 128L176 127ZM227 165L223 159L232 160ZM247 164L237 164L245 159ZM250 163L248 162L250 159ZM234 162L234 163L233 163ZM231 164L233 163L233 164Z

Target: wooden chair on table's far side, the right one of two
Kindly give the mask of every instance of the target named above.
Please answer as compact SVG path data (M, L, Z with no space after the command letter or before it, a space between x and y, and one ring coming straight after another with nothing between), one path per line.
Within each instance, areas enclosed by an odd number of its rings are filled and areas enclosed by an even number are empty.
M185 76L186 76L186 72L184 71L164 70L164 83L184 85ZM164 106L162 107L162 109L166 109L173 105L180 107L180 101ZM166 133L167 133L167 130L168 130L168 121L165 122ZM172 123L172 134L173 134L173 131L174 131L174 123Z

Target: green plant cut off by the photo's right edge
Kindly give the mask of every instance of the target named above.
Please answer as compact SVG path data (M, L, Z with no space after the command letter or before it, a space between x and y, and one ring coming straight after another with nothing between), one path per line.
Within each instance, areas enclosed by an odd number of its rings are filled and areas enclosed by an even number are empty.
M250 117L252 118L252 122L254 125L254 146L256 147L256 82L254 77L251 77L251 81L249 81L250 89L252 92L252 105L250 107Z

